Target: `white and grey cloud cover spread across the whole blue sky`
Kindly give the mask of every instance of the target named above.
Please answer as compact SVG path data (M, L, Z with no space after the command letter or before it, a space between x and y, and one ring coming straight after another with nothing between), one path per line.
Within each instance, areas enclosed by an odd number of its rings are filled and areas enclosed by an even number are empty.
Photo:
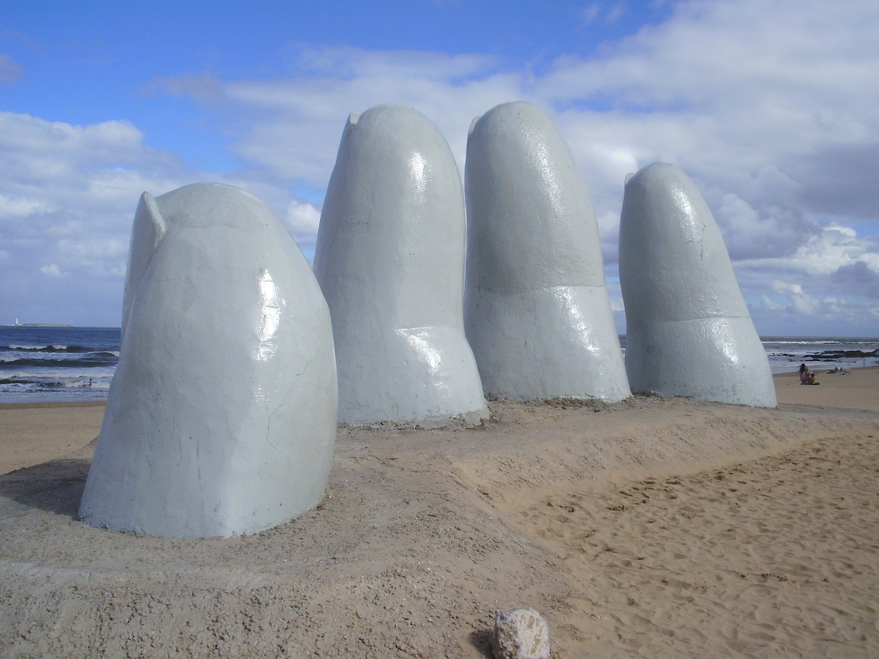
M667 7L657 25L588 57L559 54L540 70L488 54L298 44L287 73L272 79L190 71L145 91L192 98L213 113L243 167L209 178L264 199L305 251L348 112L415 107L446 135L462 169L471 119L498 103L532 101L556 119L592 188L614 308L623 179L663 161L694 179L715 214L760 331L788 322L792 333L832 333L848 323L871 333L879 313L879 5ZM626 11L625 3L595 2L580 18L628 20ZM116 272L136 196L206 177L144 141L125 121L75 127L0 114L0 237L9 260L42 246L49 253L40 263L62 272L84 263ZM301 188L316 198L297 199ZM87 234L105 251L77 237ZM63 240L91 256L62 250ZM92 271L98 262L105 268Z

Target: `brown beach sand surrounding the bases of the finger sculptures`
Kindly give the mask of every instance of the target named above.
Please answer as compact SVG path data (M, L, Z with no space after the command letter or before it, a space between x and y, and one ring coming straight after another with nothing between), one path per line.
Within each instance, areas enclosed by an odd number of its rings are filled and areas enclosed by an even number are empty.
M0 471L54 456L0 476L0 656L480 657L519 606L555 657L879 656L879 370L818 380L341 428L318 510L227 540L81 524L103 409L0 406Z

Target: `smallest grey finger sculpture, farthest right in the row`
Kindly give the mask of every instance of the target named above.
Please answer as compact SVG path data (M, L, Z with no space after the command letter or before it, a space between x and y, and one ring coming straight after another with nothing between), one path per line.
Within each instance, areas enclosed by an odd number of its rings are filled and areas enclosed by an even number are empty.
M620 285L633 391L776 406L723 236L693 182L670 164L628 178Z

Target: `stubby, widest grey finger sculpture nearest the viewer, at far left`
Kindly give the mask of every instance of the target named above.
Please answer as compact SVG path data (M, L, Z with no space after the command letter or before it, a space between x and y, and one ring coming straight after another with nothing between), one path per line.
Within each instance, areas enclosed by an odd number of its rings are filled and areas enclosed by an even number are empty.
M329 311L278 216L229 185L144 192L80 517L172 538L294 518L323 499L336 400Z

